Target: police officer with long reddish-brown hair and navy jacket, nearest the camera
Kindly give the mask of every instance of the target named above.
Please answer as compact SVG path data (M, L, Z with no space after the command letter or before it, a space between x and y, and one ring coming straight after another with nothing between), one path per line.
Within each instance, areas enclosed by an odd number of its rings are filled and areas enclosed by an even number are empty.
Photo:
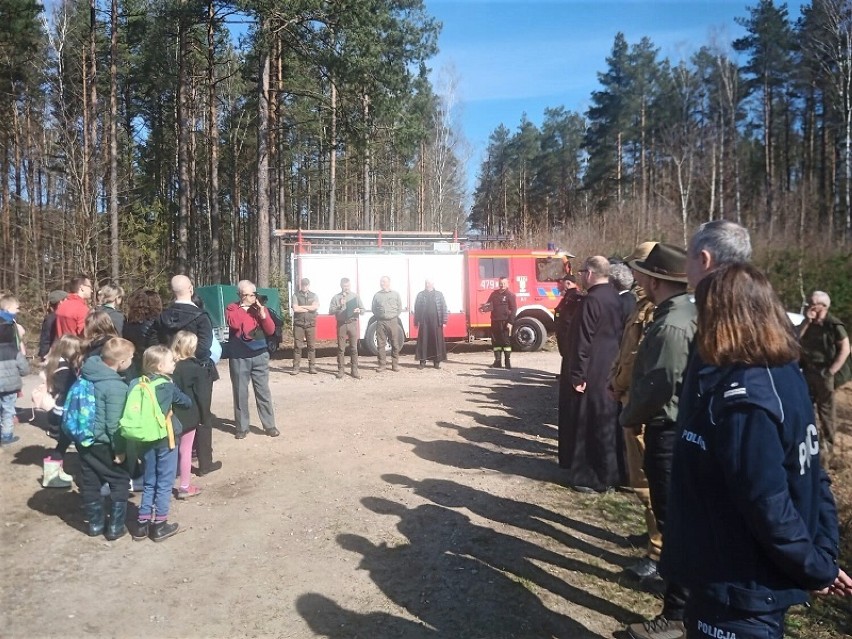
M688 639L781 639L809 592L852 594L799 346L751 265L713 271L695 302L703 366L680 421L661 572L691 591Z

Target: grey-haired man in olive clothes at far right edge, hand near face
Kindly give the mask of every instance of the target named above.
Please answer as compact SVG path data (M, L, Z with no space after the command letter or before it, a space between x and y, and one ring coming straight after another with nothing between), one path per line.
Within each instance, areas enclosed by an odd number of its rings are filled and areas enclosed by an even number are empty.
M836 431L834 391L852 378L849 333L843 322L828 312L830 307L828 293L814 291L799 326L802 372L819 417L820 456L826 466L831 461Z

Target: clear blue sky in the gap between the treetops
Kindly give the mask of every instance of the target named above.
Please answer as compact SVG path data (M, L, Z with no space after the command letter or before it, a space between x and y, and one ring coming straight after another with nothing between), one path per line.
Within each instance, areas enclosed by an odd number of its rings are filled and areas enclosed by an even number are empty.
M747 17L757 2L426 0L429 14L443 23L430 66L435 80L449 72L457 84L457 117L471 147L470 191L488 137L501 123L514 132L524 113L540 125L548 107L586 111L619 31L630 45L648 36L660 58L675 62L711 43L730 49L744 33L734 18ZM787 2L791 21L802 4Z

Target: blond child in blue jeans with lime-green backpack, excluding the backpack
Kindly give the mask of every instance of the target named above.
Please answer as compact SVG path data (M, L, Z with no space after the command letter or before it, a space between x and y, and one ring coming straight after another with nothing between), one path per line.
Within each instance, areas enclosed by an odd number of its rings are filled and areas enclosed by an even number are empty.
M156 385L154 392L163 415L170 415L172 407L189 408L192 400L172 382L175 372L174 353L165 346L151 346L142 354L142 372L150 382L160 378L165 381ZM139 383L139 380L136 380ZM148 444L141 451L144 466L142 502L136 522L135 541L150 537L153 541L163 541L174 535L178 524L169 523L169 507L172 501L172 488L178 464L176 441L182 431L180 420L171 416L171 432L159 441Z

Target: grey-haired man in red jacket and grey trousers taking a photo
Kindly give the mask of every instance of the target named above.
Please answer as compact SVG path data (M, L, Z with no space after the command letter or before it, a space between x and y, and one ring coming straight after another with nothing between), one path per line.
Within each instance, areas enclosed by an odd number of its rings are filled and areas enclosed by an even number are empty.
M257 288L249 280L237 284L239 301L225 308L228 322L228 370L234 393L234 425L236 438L244 439L249 431L248 383L254 388L257 414L266 434L278 437L269 390L269 349L266 338L275 333L275 322L257 299Z

